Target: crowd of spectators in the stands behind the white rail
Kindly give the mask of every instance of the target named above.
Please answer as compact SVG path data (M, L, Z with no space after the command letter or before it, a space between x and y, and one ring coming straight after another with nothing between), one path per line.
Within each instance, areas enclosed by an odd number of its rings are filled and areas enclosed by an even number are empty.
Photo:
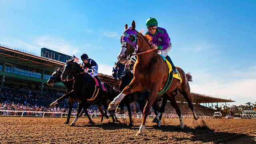
M67 108L67 100L64 100L63 107L49 107L42 102L53 102L59 97L61 97L64 92L57 91L44 91L41 93L40 90L36 90L33 88L28 88L25 86L16 86L16 85L5 85L3 90L0 90L0 110L16 110L16 111L35 111L35 112L68 112ZM5 98L5 99L2 99ZM36 104L30 104L27 101L34 101ZM130 104L132 114L142 115L140 112L138 103ZM193 116L191 110L188 108L187 104L178 103L178 106L183 114L183 116ZM76 105L73 106L72 113L76 113ZM163 116L165 117L175 117L177 116L176 111L170 103L166 104L165 113ZM213 114L213 109L206 108L200 105L194 105L194 110L199 116L209 116ZM127 112L127 111L126 111ZM150 110L152 116L154 116L154 111ZM91 107L88 109L88 113L100 113L97 108ZM0 112L0 115L21 115L20 112L12 113L12 112ZM27 112L24 113L26 115L40 115L40 113L32 113ZM127 113L128 114L128 113Z

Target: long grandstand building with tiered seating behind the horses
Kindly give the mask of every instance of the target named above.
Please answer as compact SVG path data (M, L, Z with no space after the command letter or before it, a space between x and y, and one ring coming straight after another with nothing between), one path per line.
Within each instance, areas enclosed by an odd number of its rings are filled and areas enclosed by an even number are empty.
M42 50L48 49L42 48ZM48 86L46 84L54 69L64 66L65 63L54 60L52 57L49 58L49 56L46 58L44 54L41 55L43 56L0 43L0 82L2 92L0 100L8 100L10 98L17 100L18 97L19 102L30 100L31 104L40 103L47 105L54 98L58 98L58 96L61 96L65 92L66 88L62 83L55 84L54 86ZM71 58L71 56L68 58ZM113 87L118 88L119 81L112 79L112 76L105 74L98 75L102 82L108 82ZM8 94L12 96L8 96ZM22 95L26 95L26 97ZM212 103L234 102L232 100L213 98L196 93L191 93L191 97L195 109L202 111L204 113L203 115L213 114L212 111L214 110L212 106L210 108L210 104ZM182 95L178 94L176 100L183 112L190 111L187 110L188 106L184 104L186 100ZM205 106L199 104L205 104ZM175 113L174 109L170 110L170 112Z

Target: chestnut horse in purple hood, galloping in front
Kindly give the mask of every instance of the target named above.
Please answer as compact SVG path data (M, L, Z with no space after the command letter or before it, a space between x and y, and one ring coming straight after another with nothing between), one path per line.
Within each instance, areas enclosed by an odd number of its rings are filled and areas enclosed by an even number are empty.
M140 32L135 30L134 21L132 22L132 27L130 28L128 28L126 24L121 42L122 47L118 56L120 62L125 63L127 57L130 56L133 52L136 52L137 54L137 61L134 65L134 78L132 79L132 82L126 86L126 88L124 88L124 90L109 104L108 110L115 109L120 100L122 100L126 94L141 91L143 89L150 90L150 94L148 95L148 102L146 103L146 106L143 110L142 124L136 134L136 136L138 136L142 135L142 132L145 130L146 118L149 115L152 104L159 96L158 92L160 92L165 87L168 79L169 69L163 58L157 54L155 50L152 50L150 44L148 43L148 39ZM168 95L168 100L173 103L172 106L174 106L177 112L179 108L173 92L178 89L179 92L186 98L186 101L188 102L189 107L194 114L194 119L197 120L198 116L193 110L192 100L190 97L188 78L181 68L176 68L182 78L182 82L174 78L170 88L165 92L165 94ZM180 128L184 128L181 114L178 115L180 119Z

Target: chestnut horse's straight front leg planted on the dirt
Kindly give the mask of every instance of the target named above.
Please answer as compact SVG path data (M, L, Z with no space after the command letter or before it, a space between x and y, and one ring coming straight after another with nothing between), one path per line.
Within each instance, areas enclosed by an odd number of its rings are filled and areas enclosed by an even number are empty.
M158 88L156 85L151 88L150 93L148 95L148 102L146 103L146 106L143 110L142 124L141 124L140 130L137 132L136 136L142 135L143 131L145 130L146 119L149 115L151 106L153 105L154 101L156 100L157 93L158 93Z

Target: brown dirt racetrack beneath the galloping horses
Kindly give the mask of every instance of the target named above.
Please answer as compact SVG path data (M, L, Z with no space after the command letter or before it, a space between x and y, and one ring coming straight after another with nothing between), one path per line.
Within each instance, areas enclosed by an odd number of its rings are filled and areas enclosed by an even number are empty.
M88 124L87 118L79 118L76 126L66 125L65 121L66 118L0 117L0 143L256 144L256 119L184 119L184 130L176 130L178 119L164 119L161 128L148 119L140 137L135 137L140 119L135 119L132 127L122 119L121 123L112 124L110 119L100 122L94 118L96 124Z

